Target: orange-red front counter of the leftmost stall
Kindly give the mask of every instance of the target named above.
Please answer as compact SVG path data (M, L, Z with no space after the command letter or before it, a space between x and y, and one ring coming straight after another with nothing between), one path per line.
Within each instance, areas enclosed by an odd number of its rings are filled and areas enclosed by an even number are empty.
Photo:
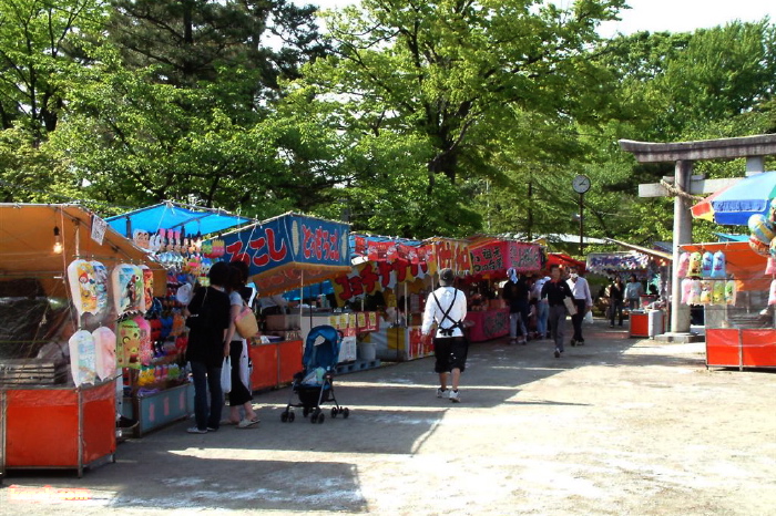
M83 469L113 462L115 385L0 389L2 471ZM41 424L41 414L45 414Z

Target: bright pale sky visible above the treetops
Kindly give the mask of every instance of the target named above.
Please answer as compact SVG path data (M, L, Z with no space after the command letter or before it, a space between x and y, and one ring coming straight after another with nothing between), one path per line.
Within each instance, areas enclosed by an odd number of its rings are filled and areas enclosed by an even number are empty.
M323 9L337 9L358 3L358 0L293 0L314 3ZM572 0L558 0L569 6ZM776 0L630 0L632 9L620 13L622 21L604 24L600 34L609 38L616 32L630 34L640 30L650 32L685 32L700 28L723 25L734 20L759 21L768 16L776 23Z

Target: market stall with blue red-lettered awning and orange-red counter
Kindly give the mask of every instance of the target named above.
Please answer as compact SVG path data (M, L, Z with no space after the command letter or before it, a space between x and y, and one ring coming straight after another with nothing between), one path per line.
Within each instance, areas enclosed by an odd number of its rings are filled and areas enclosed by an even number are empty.
M226 261L248 264L259 297L303 289L350 270L348 226L343 223L287 213L225 234L223 244ZM318 322L314 316L328 322L334 312L309 307L266 318L270 341L254 341L249 348L254 390L293 380L302 367L307 331Z

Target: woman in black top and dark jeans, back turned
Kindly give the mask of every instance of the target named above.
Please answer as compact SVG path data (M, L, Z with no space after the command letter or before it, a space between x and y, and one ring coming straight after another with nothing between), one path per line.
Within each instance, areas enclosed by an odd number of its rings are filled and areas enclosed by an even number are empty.
M186 318L186 360L191 364L194 380L196 421L196 426L186 430L190 434L217 431L224 406L221 370L224 358L228 355L226 331L229 327L229 298L225 290L229 279L229 267L223 262L214 264L207 277L211 286L200 287L187 307L190 316Z

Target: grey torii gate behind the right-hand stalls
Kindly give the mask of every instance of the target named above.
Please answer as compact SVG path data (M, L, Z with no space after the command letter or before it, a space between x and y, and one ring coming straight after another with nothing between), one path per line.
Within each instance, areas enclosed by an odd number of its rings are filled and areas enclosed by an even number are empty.
M674 162L675 177L670 192L664 183L639 185L640 197L674 196L674 239L671 274L671 332L663 339L677 342L692 340L690 334L690 307L678 302L682 298L681 278L676 278L680 246L692 244L693 218L690 213L690 194L712 194L727 186L733 179L705 179L693 176L693 163L700 159L746 158L746 175L763 171L763 157L776 155L776 134L762 134L738 138L703 140L680 143L651 143L620 140L620 147L632 153L639 163ZM671 178L668 178L671 179Z

